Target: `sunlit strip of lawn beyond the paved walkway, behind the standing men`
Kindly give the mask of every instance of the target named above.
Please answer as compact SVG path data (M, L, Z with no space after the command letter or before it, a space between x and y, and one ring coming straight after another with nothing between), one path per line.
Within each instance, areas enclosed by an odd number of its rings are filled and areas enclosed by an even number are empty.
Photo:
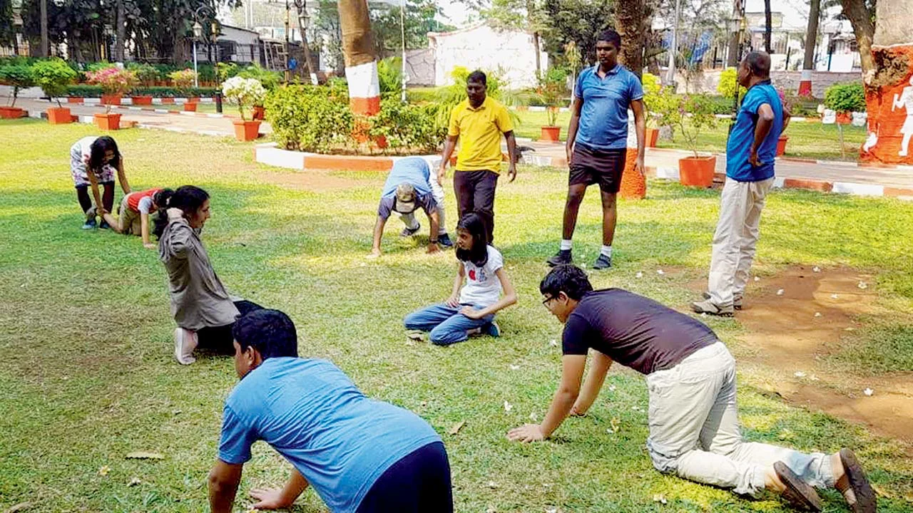
M540 127L548 123L545 112L518 111L520 124L517 127L518 137L531 139L540 138ZM567 139L568 122L571 114L560 112L558 125L561 126L561 140ZM859 148L866 141L864 127L844 127L844 152L840 152L840 135L836 125L823 125L795 121L786 129L790 141L786 145L786 156L803 159L819 159L831 161L855 161L859 156ZM725 152L726 138L729 132L729 120L719 120L715 129L704 131L698 137L698 151L700 152ZM685 140L676 135L674 141L660 140L660 148L688 149Z

